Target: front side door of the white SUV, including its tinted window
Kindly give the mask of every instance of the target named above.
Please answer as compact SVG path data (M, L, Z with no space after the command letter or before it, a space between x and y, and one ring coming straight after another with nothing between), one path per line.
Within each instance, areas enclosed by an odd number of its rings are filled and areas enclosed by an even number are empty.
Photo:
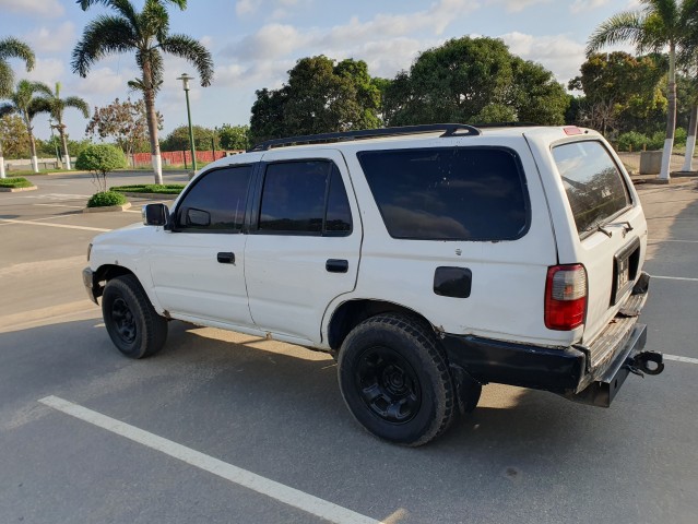
M202 175L173 211L173 230L153 246L157 299L174 318L250 326L245 287L245 207L253 165Z

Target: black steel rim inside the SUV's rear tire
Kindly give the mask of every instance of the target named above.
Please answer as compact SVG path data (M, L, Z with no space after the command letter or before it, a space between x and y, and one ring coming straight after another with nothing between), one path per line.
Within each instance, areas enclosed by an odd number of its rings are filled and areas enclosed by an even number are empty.
M409 422L422 405L417 373L402 355L386 346L362 353L356 385L370 412L391 424Z

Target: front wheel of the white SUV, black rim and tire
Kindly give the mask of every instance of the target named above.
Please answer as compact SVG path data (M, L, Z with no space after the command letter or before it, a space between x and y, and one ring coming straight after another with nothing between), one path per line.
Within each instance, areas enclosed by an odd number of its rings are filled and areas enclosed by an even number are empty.
M167 338L167 320L155 311L133 275L107 282L102 314L114 345L129 358L156 354Z

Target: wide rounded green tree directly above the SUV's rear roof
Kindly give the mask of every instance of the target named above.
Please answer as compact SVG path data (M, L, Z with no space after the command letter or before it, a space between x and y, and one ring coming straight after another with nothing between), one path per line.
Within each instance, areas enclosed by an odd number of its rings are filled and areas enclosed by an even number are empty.
M495 38L454 38L417 57L386 88L390 126L437 122L564 122L568 97L542 66Z

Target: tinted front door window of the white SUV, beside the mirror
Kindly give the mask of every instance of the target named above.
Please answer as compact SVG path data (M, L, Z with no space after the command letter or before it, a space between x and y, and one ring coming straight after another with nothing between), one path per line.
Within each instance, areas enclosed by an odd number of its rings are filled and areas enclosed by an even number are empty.
M239 231L245 223L252 166L215 169L204 175L177 207L176 229L187 233Z

